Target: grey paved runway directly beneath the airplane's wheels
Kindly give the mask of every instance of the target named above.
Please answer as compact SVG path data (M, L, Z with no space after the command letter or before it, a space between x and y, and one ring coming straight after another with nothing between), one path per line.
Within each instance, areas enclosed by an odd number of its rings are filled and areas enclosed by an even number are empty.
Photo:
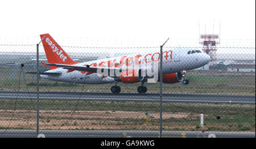
M40 99L159 102L159 93L56 92L39 93ZM0 91L0 99L36 99L35 91ZM163 102L255 104L255 95L201 95L163 93Z

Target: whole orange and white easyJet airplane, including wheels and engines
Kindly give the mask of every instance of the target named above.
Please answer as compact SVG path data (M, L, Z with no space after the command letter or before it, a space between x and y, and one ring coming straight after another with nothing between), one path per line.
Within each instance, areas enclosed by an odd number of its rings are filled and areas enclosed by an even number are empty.
M121 92L121 88L117 86L119 82L141 82L141 86L137 89L139 93L147 92L147 87L143 85L150 79L159 82L158 50L79 63L70 58L48 33L40 37L48 61L41 63L43 67L48 65L50 68L48 71L40 72L40 78L80 84L114 83L115 85L110 89L113 93ZM210 57L200 50L163 50L162 54L163 83L188 84L188 80L185 79L186 71L204 66L210 61ZM154 74L149 75L152 70Z

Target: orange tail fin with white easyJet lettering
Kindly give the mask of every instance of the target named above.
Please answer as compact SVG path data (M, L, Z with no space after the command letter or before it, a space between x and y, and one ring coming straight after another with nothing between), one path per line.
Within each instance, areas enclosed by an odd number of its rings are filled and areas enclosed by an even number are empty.
M67 53L57 44L57 42L48 34L40 35L41 39L43 39L44 51L46 52L46 57L48 63L60 63L60 64L68 64L73 65L76 64L76 61L73 61ZM56 69L55 66L50 66L50 69Z

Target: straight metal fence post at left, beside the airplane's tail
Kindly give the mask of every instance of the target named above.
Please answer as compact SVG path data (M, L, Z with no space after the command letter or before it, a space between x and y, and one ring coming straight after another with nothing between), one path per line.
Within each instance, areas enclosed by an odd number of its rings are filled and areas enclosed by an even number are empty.
M36 137L39 134L39 44L36 44L36 99L37 102L37 113L36 113Z

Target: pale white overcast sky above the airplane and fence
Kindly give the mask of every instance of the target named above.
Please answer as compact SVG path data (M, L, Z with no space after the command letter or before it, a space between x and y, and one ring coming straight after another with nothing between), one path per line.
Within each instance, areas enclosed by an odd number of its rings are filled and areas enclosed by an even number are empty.
M222 41L255 47L255 0L10 0L0 14L0 44L34 44L49 33L67 46L160 46L167 38L183 46L199 42L199 24L201 34L218 34L221 24Z

